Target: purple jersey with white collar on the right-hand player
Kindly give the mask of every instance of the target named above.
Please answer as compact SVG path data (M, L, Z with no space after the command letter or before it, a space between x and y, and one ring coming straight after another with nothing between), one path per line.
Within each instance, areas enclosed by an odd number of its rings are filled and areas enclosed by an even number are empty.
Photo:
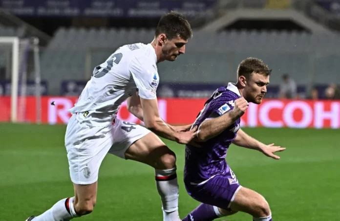
M205 103L193 127L199 126L206 119L218 117L233 110L234 101L239 97L239 91L232 83L229 83L228 87L218 88ZM198 184L226 171L227 150L236 137L239 125L240 118L224 132L201 143L201 148L186 146L184 168L184 179L186 181Z

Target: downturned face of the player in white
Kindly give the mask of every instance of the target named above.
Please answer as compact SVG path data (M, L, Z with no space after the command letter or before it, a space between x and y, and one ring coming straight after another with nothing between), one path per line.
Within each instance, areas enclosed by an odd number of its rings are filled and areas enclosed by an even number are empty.
M177 56L185 53L185 45L188 40L181 39L180 37L164 41L162 45L162 52L164 60L175 61Z

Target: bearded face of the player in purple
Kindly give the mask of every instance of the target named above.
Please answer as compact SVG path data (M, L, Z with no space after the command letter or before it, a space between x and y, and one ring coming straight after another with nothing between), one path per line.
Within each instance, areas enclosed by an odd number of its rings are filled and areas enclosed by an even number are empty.
M248 102L261 104L264 95L267 93L267 85L269 84L269 75L253 73L250 79L246 81L244 88L244 97Z

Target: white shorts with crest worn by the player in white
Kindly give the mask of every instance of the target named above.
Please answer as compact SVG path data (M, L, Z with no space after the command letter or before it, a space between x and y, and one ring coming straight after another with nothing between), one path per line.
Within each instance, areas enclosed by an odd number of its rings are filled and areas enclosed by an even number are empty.
M84 185L96 182L99 167L107 153L125 159L130 145L148 133L150 131L140 125L119 119L109 127L94 127L79 122L73 114L65 134L72 182Z

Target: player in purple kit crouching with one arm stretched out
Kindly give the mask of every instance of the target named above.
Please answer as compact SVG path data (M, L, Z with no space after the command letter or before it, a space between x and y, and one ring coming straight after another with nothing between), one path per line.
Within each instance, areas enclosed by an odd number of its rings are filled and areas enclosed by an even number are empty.
M212 221L238 211L253 221L272 221L268 202L242 187L225 157L229 146L258 150L274 159L285 148L265 145L239 129L249 102L260 104L267 92L271 69L261 60L247 58L237 69L237 83L215 90L192 125L198 127L200 148L186 145L184 183L188 194L201 202L183 221Z

